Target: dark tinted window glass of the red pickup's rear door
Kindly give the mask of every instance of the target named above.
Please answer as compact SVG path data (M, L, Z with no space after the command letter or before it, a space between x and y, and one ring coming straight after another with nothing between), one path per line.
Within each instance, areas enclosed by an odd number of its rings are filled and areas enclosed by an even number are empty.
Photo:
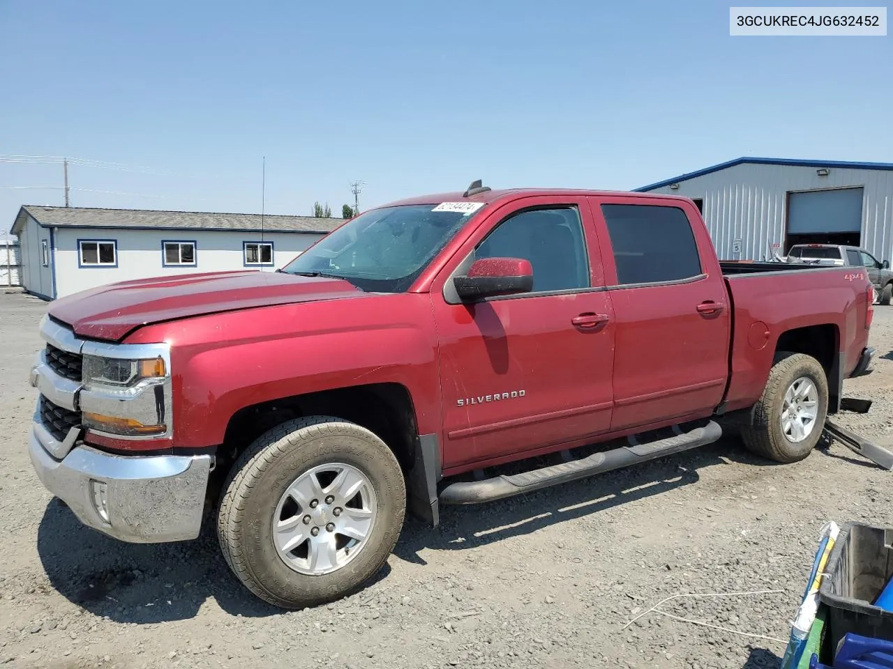
M618 284L679 281L702 273L695 235L678 207L603 204L602 213Z

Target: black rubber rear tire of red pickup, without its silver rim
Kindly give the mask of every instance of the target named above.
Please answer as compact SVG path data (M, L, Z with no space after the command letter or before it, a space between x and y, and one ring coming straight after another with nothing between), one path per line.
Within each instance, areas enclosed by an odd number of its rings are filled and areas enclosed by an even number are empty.
M808 434L796 442L782 429L781 414L785 393L800 379L813 384L816 415L810 421L812 427ZM763 395L755 404L752 420L741 430L741 438L747 450L756 455L781 463L797 462L806 458L821 439L827 416L828 379L822 365L804 353L780 352L776 354Z

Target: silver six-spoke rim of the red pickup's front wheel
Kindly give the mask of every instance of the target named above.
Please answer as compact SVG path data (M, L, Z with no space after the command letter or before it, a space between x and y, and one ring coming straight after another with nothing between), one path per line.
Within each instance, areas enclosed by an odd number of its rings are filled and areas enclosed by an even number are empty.
M298 574L331 574L365 548L377 501L356 467L331 463L298 476L273 516L273 542Z

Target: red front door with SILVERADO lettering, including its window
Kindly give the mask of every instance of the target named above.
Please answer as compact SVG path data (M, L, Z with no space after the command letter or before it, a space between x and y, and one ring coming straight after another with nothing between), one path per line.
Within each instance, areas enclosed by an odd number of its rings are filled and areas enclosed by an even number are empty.
M530 260L533 291L462 304L432 290L444 468L606 432L613 312L600 263L590 262L598 252L585 199L531 197L497 209L446 270L446 281L471 254Z

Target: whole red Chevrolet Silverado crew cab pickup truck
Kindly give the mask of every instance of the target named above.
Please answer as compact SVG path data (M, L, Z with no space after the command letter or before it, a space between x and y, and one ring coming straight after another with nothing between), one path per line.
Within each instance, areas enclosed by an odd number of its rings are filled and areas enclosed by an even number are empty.
M871 322L864 270L721 263L690 200L476 182L367 211L276 272L55 301L29 451L84 524L181 541L213 512L247 588L312 606L380 569L407 509L437 525L723 424L805 458Z

